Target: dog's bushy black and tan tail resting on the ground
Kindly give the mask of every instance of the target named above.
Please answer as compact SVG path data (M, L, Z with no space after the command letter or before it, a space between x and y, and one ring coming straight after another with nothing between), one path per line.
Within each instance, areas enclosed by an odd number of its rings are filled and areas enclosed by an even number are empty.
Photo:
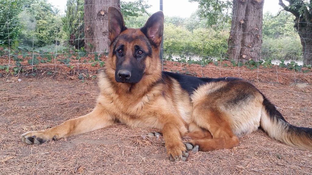
M290 125L275 106L262 94L260 126L276 140L300 149L312 150L312 128Z

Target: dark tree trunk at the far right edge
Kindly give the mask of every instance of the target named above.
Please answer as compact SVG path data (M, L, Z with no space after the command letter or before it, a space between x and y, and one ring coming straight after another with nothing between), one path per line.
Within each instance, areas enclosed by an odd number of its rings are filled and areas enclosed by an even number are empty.
M306 22L310 20L304 20L303 18L300 18L300 22L298 23L298 19L296 18L294 20L294 27L300 36L303 64L312 65L312 24Z

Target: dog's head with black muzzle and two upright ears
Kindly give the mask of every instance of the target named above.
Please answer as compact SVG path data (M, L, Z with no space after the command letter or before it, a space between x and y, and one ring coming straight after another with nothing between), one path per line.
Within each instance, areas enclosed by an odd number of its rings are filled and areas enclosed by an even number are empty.
M116 82L138 83L151 64L147 59L159 58L163 12L154 13L141 29L128 29L121 12L109 7L108 27L111 41L109 57L114 64Z

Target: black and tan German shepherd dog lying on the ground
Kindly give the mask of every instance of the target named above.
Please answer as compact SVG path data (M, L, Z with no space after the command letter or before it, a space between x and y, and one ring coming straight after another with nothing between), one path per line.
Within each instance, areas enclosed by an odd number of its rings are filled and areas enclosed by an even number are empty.
M163 12L154 13L141 29L126 28L114 7L108 14L110 53L98 74L100 95L94 110L56 127L27 132L24 143L41 144L121 123L161 130L171 161L185 161L189 150L238 146L238 137L258 127L285 144L312 150L312 129L290 125L251 83L163 72ZM183 136L192 140L183 143Z

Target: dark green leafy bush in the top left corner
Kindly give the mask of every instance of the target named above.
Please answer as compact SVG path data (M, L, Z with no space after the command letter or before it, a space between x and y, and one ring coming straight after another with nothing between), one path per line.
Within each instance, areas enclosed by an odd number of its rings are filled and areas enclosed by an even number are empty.
M23 8L22 1L0 0L0 4L0 45L17 47L22 26L18 18Z

